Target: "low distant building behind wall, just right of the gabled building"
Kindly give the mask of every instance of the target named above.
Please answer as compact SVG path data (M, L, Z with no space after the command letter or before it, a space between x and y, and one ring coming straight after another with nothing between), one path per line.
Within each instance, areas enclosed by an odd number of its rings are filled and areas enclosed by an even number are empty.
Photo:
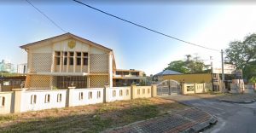
M117 69L113 74L113 86L130 86L131 84L145 85L146 75L135 69Z

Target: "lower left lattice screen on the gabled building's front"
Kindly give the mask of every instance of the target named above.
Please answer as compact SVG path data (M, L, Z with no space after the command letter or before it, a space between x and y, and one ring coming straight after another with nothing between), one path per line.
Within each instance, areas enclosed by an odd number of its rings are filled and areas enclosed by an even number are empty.
M49 90L51 77L44 75L27 75L26 88L29 90Z

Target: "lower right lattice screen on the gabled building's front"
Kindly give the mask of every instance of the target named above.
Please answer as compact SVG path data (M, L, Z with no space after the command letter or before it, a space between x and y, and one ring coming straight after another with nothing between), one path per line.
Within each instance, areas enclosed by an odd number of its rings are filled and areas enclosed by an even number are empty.
M90 75L91 88L102 88L105 85L107 85L107 83L108 83L108 75Z

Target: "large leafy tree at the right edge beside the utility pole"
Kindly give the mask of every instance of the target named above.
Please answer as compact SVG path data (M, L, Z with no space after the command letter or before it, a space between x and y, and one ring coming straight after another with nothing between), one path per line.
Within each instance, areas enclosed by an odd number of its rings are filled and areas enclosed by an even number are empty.
M230 42L225 49L226 62L235 64L237 69L242 69L244 78L255 76L256 70L256 34L247 36L243 41ZM254 63L253 63L254 62Z

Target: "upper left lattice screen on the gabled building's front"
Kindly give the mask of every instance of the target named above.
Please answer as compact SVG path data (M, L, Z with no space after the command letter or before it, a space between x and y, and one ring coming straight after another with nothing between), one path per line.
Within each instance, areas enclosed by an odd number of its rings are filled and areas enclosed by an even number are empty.
M51 53L32 53L32 72L50 72L52 63Z

